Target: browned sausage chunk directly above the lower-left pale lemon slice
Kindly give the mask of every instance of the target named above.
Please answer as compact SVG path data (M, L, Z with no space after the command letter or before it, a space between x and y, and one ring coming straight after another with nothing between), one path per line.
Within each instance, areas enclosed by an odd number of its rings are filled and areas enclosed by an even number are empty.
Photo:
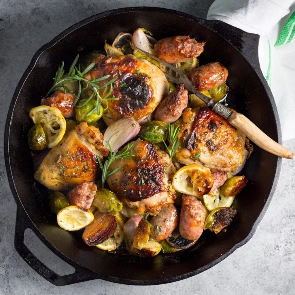
M71 205L82 209L89 209L97 191L97 186L92 181L83 180L78 186L68 192Z

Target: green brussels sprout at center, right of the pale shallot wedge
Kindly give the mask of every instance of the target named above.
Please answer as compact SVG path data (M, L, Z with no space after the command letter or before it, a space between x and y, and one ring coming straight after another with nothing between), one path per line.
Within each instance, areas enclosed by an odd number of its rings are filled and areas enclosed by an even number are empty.
M161 121L151 121L141 126L138 136L149 142L158 143L167 139L167 124Z

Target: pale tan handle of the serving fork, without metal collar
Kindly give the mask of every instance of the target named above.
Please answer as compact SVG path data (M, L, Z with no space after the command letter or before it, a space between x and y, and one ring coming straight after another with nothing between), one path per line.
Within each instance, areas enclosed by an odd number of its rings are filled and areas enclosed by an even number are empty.
M272 140L244 115L232 112L227 120L263 150L279 157L294 159L294 153L291 150Z

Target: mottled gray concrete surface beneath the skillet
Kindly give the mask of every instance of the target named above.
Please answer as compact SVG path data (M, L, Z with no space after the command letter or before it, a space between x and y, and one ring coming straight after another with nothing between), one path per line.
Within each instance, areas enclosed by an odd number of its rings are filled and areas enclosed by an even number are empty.
M36 50L58 33L93 14L126 6L159 6L206 17L212 0L183 1L0 1L0 294L294 294L295 214L294 161L283 160L273 201L254 237L224 261L184 281L161 286L124 286L95 280L55 287L45 281L14 250L16 205L10 192L3 155L6 113L13 91ZM284 142L295 150L295 139ZM71 271L31 232L26 244L60 274Z

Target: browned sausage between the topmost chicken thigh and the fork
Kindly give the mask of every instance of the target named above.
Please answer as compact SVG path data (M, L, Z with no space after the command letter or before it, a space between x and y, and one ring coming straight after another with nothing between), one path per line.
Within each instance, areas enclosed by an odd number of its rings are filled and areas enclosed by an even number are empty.
M183 84L176 85L176 90L168 94L157 106L155 119L165 123L172 123L178 120L186 109L189 101L188 91Z

